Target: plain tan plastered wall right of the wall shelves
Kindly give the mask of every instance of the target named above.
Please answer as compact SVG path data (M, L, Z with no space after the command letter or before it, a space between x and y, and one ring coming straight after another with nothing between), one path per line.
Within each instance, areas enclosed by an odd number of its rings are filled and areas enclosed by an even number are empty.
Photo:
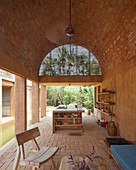
M136 56L106 73L102 88L115 91L115 122L118 134L136 141Z

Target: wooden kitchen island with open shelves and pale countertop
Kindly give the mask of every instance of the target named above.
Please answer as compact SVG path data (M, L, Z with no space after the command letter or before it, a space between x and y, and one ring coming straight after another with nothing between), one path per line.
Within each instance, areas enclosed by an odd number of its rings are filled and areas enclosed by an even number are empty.
M81 133L83 109L53 110L53 133Z

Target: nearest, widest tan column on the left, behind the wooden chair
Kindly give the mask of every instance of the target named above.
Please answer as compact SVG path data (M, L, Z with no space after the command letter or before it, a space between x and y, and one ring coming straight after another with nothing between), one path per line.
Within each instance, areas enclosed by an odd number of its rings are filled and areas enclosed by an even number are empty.
M15 77L15 133L27 129L27 91L26 79Z

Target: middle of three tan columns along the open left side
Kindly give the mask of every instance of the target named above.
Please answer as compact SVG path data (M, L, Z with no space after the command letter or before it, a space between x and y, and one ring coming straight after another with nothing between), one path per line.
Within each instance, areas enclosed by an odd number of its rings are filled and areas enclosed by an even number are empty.
M32 82L32 123L39 121L39 84Z

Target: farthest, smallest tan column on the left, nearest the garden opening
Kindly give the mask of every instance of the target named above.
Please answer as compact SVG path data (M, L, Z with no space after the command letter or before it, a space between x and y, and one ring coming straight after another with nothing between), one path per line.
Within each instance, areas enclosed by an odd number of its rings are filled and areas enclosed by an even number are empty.
M46 86L41 85L41 117L46 116Z

